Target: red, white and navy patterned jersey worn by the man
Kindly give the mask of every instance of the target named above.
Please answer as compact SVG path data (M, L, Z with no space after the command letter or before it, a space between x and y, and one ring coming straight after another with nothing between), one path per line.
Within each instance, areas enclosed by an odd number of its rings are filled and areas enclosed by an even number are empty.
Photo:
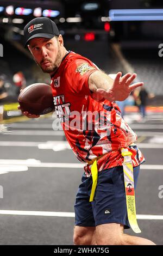
M89 59L70 51L51 76L54 106L66 139L80 161L97 161L98 171L122 165L121 148L133 153L133 166L144 161L133 144L137 136L124 121L115 102L96 101L89 89L89 76L99 70ZM86 164L85 172L90 173Z

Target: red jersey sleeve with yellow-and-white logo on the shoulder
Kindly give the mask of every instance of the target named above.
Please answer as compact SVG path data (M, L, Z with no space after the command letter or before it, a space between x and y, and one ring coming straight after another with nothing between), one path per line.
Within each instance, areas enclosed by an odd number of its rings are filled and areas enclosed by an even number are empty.
M91 95L89 89L89 76L99 70L90 60L73 60L66 70L66 80L72 93Z

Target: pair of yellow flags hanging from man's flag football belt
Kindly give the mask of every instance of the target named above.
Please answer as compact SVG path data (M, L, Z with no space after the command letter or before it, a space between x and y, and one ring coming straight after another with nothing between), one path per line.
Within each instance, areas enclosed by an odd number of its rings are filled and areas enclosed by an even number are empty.
M128 220L129 220L131 229L133 229L135 233L141 233L141 230L136 220L134 173L133 173L133 163L131 160L132 153L128 151L128 149L122 148L121 154L124 157L123 175L124 175L124 186L126 191L126 205L127 205ZM91 174L92 174L93 183L92 183L92 190L90 195L90 202L93 201L96 186L97 186L97 179L98 179L97 159L93 161L93 164L91 167Z

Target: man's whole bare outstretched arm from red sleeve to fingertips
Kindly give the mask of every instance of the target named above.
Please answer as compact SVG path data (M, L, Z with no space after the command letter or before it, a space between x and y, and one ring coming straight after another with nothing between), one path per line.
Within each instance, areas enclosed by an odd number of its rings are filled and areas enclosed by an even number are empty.
M143 86L142 82L134 83L136 74L131 75L127 73L122 76L121 72L118 72L115 79L106 75L102 71L95 71L89 77L89 89L96 95L103 96L109 101L123 101L125 100L132 90L139 86Z

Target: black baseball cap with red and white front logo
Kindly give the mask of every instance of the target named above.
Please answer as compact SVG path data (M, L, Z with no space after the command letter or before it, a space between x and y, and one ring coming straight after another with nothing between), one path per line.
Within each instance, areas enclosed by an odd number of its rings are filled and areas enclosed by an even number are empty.
M27 46L30 39L33 38L53 38L59 35L59 30L54 21L47 17L38 17L30 21L24 27L25 45Z

